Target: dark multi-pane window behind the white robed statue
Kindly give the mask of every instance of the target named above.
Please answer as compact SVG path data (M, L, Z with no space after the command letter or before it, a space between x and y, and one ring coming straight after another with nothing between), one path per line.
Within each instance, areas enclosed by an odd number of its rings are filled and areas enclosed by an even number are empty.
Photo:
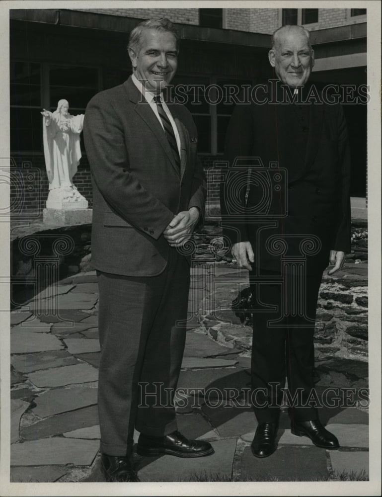
M71 113L82 114L97 91L97 68L12 61L10 150L42 152L42 108L53 112L65 98Z

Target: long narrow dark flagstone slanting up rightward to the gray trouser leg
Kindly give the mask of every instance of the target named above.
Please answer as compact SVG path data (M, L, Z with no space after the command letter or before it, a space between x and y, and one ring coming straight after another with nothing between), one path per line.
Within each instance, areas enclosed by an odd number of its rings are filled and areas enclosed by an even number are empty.
M42 421L37 421L37 423L30 426L24 426L20 428L20 435L24 440L38 440L53 435L61 435L78 428L94 426L95 424L99 424L98 408L97 406L90 406L69 413L56 414Z

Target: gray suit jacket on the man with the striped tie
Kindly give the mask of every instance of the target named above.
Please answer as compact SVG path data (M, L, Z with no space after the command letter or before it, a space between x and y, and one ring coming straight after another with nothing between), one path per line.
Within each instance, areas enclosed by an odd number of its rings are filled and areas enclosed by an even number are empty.
M92 262L126 276L160 274L169 244L163 230L180 211L203 215L206 184L197 131L183 106L169 104L181 142L180 170L163 129L131 78L95 95L83 135L93 185Z

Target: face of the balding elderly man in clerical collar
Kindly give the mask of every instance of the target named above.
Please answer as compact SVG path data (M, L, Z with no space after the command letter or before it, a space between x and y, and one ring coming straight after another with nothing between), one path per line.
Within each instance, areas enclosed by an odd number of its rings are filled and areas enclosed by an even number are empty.
M302 30L280 32L275 48L269 51L269 62L284 83L296 88L309 79L314 52Z

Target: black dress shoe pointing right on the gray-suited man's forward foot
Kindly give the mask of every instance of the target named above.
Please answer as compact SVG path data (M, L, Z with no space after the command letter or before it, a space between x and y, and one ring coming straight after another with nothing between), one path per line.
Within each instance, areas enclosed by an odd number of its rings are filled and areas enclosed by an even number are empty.
M214 449L208 442L188 440L179 431L165 436L151 436L141 433L138 438L137 453L141 456L171 454L177 457L201 457L212 454Z

